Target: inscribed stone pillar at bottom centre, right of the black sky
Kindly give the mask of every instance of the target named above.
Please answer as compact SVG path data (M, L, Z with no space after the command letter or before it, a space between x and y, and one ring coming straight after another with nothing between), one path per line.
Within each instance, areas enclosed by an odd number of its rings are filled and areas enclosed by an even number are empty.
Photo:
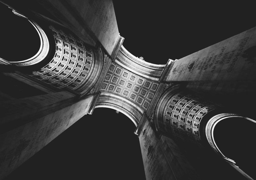
M146 179L200 179L172 138L156 133L146 114L136 131Z

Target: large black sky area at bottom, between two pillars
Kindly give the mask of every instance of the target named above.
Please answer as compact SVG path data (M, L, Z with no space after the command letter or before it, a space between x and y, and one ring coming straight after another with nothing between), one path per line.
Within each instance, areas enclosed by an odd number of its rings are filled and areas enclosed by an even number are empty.
M146 179L135 128L124 114L96 108L5 180Z

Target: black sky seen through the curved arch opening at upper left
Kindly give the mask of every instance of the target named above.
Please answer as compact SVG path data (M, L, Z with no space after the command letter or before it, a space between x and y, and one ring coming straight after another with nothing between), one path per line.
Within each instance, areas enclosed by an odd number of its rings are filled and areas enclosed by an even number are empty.
M40 37L35 27L2 3L0 14L0 58L21 61L36 55L40 49Z

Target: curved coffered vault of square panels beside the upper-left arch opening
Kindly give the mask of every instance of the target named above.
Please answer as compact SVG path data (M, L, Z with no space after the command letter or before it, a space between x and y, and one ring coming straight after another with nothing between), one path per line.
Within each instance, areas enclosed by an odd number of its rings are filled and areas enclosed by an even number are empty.
M58 89L87 93L100 75L103 51L86 47L80 38L59 27L50 25L49 29L55 41L55 54L46 66L28 75Z

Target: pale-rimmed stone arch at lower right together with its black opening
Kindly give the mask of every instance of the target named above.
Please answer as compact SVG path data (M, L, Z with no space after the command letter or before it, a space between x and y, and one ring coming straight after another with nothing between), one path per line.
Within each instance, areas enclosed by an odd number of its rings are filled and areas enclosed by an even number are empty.
M205 129L206 138L215 153L253 178L255 173L251 165L256 159L255 127L256 121L248 117L222 113L212 117Z

